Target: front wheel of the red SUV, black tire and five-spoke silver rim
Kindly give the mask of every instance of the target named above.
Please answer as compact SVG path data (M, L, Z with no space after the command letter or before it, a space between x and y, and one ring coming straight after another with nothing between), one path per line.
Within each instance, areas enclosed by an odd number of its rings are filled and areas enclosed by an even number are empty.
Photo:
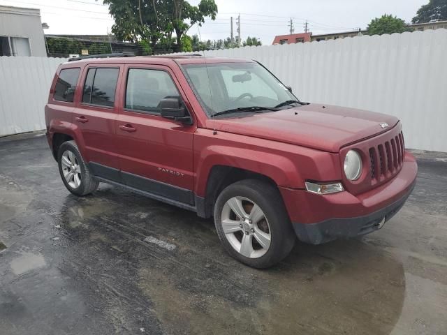
M281 194L265 181L246 179L223 189L214 204L214 224L223 248L250 267L271 267L295 245Z

